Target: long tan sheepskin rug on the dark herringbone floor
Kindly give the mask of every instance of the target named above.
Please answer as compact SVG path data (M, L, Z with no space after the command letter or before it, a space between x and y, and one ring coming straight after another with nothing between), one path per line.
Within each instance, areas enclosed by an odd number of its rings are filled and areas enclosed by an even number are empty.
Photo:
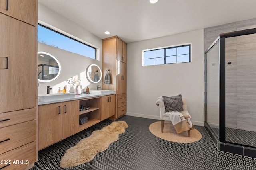
M60 167L68 168L90 162L97 153L103 152L110 143L117 141L119 134L124 133L127 127L125 121L114 121L102 130L93 131L92 135L66 151L61 158Z

